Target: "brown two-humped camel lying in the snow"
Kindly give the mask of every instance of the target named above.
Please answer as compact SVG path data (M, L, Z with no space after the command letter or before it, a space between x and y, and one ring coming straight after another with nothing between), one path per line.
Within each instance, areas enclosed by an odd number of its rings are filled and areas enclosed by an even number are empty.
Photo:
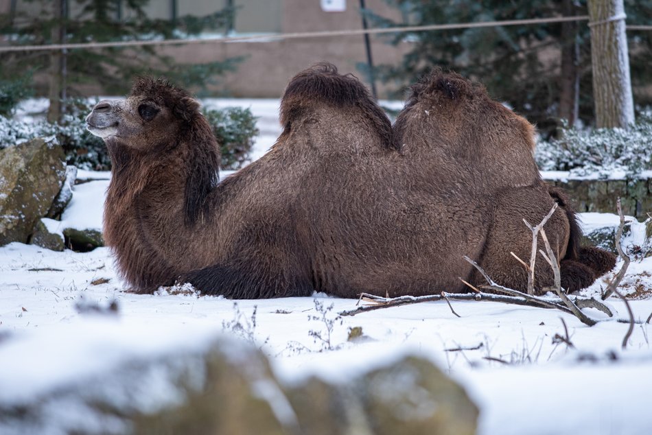
M437 74L430 82L441 82ZM430 82L419 82L393 128L353 76L329 64L302 71L281 99L275 145L221 182L216 139L183 89L141 78L127 99L99 102L86 122L113 163L104 239L121 277L142 293L191 283L228 298L419 296L465 292L460 278L480 283L468 255L523 290L524 270L509 252L529 255L522 218L538 223L557 200L561 211L545 228L566 264L563 283L590 285L603 271L579 255L568 201L540 180L531 151L515 149L533 145L531 126L500 105L483 110L501 116L454 117L454 106L484 91L450 78L450 101L440 102L448 108L415 115L432 97ZM505 143L492 149L514 152L516 165L465 139L471 118L493 123L478 131L494 132ZM542 264L536 284L539 293L552 284Z

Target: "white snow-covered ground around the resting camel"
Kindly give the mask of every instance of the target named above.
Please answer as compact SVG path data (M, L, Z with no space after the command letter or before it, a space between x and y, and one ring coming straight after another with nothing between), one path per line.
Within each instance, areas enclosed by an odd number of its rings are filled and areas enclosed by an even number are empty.
M257 158L280 127L278 100L218 100L208 106L250 106L259 117ZM64 219L100 228L109 174L75 186ZM104 179L102 179L104 178ZM617 219L584 213L585 228ZM433 265L436 267L436 265ZM617 269L620 267L618 263ZM636 319L652 312L652 258L635 260L625 281ZM583 294L598 294L595 283ZM316 373L341 377L379 358L406 352L428 355L467 388L480 407L480 434L651 434L650 325L636 325L627 343L625 305L594 327L561 311L491 302L421 303L338 318L357 301L312 298L229 301L183 289L154 295L125 292L107 248L78 253L10 244L0 248L0 401L23 400L71 378L98 373L110 362L142 353L192 346L225 331L253 340L281 377ZM80 301L118 305L108 320L80 314ZM254 314L255 313L255 314ZM321 320L314 320L314 317ZM568 326L574 349L553 342ZM244 330L235 327L244 326ZM366 340L348 342L362 327ZM315 340L320 335L325 340ZM329 338L327 338L329 337ZM197 344L200 346L200 344ZM108 349L108 350L107 350ZM474 349L474 350L455 350Z

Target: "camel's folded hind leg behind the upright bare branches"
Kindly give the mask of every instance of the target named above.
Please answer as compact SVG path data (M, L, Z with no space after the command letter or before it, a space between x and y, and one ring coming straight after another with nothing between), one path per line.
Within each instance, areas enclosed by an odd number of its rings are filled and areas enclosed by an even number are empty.
M529 263L532 251L532 232L525 226L523 220L527 220L532 225L539 224L554 204L555 201L550 197L548 189L544 185L509 189L496 196L493 224L479 261L480 266L485 269L493 281L514 290L527 291L527 269L510 252L513 252L525 263ZM565 211L557 209L544 229L552 251L558 257L563 258L566 254L570 233ZM537 242L538 249L545 250L541 235ZM572 269L572 266L576 267ZM579 263L578 265L569 263L566 268L562 268L562 277L564 271L568 274L573 270L577 274L572 277L573 282L584 286L586 283L593 282L594 274L588 268L584 270L580 266ZM480 274L476 273L473 279L480 285L485 283ZM540 254L537 254L535 293L542 294L544 287L550 287L553 284L552 268Z

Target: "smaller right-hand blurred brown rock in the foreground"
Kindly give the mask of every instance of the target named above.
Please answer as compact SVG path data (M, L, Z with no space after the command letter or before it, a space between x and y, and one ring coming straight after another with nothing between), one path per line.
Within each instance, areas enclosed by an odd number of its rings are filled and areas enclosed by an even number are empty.
M478 408L431 362L406 357L345 384L286 389L304 434L475 434Z

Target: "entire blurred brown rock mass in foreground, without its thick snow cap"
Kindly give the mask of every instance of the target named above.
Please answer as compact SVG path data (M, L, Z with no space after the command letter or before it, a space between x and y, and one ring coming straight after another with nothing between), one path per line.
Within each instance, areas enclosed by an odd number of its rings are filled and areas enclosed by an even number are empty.
M107 346L104 353L109 359L124 347L115 337L97 334L93 339L93 346ZM20 343L16 349L7 348L12 340L0 346L0 354L19 350ZM476 431L476 405L426 359L405 356L378 362L366 373L359 368L341 369L344 381L314 376L283 380L253 345L213 337L200 350L177 346L164 353L130 357L86 376L70 379L58 372L53 377L67 380L48 381L47 388L36 388L36 393L33 386L19 386L21 393L11 399L0 395L0 433L465 435ZM8 384L5 388L11 388L12 382Z

